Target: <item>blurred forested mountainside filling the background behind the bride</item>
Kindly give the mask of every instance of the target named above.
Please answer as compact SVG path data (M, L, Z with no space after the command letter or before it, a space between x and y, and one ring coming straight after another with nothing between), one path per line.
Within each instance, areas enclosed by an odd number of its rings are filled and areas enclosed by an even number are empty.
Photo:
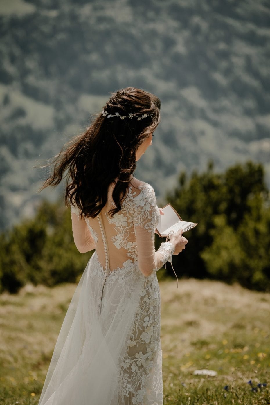
M159 196L209 159L259 160L270 183L269 23L266 0L1 1L0 228L32 214L33 166L128 85L162 100L137 173Z

